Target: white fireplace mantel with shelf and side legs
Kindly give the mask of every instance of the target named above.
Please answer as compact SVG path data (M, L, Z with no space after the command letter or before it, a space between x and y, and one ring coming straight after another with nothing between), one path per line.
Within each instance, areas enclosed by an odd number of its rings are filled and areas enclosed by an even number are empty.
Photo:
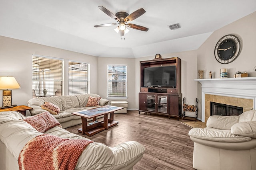
M202 84L202 122L205 121L205 94L253 100L256 106L256 77L195 79Z

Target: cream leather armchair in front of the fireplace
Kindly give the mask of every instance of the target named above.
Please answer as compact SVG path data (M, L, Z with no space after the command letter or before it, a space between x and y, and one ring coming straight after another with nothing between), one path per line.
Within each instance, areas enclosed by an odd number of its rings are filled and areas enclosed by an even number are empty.
M188 133L197 170L256 170L256 110L210 116L206 128Z

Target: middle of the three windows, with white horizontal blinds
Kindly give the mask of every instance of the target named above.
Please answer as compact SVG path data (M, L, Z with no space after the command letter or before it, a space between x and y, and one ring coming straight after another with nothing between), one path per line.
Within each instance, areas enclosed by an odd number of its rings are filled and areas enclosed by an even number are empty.
M89 93L90 64L68 62L68 94Z

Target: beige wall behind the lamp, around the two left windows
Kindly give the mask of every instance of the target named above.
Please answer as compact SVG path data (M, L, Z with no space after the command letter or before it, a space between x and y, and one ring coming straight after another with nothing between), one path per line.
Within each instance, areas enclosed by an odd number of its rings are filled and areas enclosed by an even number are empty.
M98 84L98 57L0 36L0 76L14 76L21 87L12 90L12 104L26 105L32 98L33 54L64 59L65 95L68 94L68 60L90 63L90 92L98 94L98 86L95 86Z

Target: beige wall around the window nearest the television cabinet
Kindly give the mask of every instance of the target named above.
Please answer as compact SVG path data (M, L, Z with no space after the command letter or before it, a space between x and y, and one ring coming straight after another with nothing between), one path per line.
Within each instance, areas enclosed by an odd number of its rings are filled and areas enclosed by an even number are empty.
M133 58L108 58L99 57L98 58L98 92L103 98L107 98L107 65L108 64L118 64L127 66L127 99L108 99L112 100L126 100L128 102L128 109L138 109L136 106L135 96L135 59ZM138 102L137 102L138 103Z

